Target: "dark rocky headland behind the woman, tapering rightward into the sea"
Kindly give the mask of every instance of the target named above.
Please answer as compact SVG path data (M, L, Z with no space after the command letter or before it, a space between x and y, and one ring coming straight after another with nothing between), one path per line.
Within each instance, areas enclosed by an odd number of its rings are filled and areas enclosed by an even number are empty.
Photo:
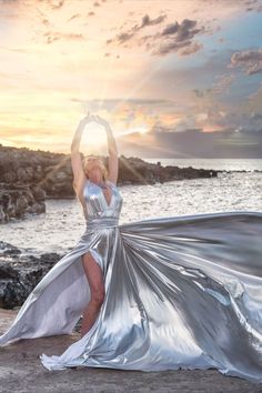
M107 164L107 158L101 157ZM162 167L139 158L119 158L118 185L155 184L173 180L213 178L219 171ZM70 154L0 144L0 223L46 212L46 199L75 198Z

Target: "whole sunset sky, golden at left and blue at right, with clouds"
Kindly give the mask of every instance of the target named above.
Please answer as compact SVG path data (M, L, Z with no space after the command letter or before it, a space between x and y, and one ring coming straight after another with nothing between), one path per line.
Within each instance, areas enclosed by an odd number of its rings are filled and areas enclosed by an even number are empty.
M0 0L0 143L262 158L262 0ZM84 153L107 153L89 123Z

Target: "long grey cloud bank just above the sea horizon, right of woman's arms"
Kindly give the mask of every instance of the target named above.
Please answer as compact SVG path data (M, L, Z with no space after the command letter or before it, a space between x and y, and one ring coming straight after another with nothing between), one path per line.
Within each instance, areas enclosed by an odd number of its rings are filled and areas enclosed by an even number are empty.
M261 158L262 130L175 132L155 128L149 134L121 137L118 145L123 154L148 158Z

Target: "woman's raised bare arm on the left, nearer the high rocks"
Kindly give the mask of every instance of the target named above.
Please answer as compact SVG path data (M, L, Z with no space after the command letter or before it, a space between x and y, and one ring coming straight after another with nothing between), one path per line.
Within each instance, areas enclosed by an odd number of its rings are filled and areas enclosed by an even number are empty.
M80 147L81 137L84 127L91 120L93 120L93 118L88 113L88 115L80 121L71 143L71 165L73 172L73 188L77 193L81 193L83 183L85 181L85 174L83 172L82 159L81 159L81 153L79 151L79 147Z

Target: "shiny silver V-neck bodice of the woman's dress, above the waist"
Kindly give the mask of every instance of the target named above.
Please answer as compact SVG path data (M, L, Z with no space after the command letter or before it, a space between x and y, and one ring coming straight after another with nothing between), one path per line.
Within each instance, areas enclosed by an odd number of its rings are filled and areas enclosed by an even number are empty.
M110 180L105 181L111 190L110 202L105 200L103 190L98 184L93 183L89 179L83 187L83 213L87 224L94 221L111 221L117 222L122 209L122 195L119 192L118 187Z

